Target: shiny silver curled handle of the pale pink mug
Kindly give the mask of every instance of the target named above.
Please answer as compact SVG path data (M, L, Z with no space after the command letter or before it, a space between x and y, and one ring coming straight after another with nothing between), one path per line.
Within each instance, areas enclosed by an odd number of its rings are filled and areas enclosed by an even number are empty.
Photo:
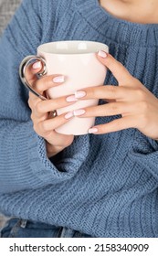
M22 83L26 86L26 88L29 91L34 93L41 100L45 101L45 100L47 100L47 98L44 97L43 95L41 95L40 93L38 93L37 91L35 91L32 88L32 86L29 84L29 82L26 80L26 67L29 64L32 64L36 61L41 61L42 66L43 66L42 70L37 73L37 77L42 77L42 76L46 75L47 74L46 60L41 58L41 57L38 57L38 56L30 55L30 56L27 56L25 59L22 60L22 62L20 64L20 67L19 67L19 76L20 76L20 79L21 79Z

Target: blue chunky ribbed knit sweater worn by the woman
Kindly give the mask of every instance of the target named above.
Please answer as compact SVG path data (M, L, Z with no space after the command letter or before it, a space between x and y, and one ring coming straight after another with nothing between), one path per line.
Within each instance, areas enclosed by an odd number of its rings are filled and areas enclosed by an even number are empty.
M109 45L158 96L158 25L117 19L98 0L24 0L0 40L0 211L93 237L158 237L156 141L136 129L87 134L48 159L34 132L19 64L38 45L68 39ZM117 86L111 72L105 84Z

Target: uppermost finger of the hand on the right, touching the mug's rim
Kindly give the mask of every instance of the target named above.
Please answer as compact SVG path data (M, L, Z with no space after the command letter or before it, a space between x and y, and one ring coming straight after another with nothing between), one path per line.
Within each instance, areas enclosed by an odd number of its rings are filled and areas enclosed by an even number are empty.
M97 58L104 66L111 70L113 76L116 78L116 80L118 80L119 84L128 85L128 83L132 80L132 75L130 72L121 64L121 62L114 59L111 54L100 50Z

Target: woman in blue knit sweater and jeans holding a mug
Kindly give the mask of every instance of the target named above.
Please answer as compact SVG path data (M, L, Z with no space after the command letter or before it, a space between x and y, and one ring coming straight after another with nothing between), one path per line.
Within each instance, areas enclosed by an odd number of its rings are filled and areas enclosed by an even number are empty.
M0 43L0 210L16 217L2 237L158 236L157 7L149 0L23 1ZM21 60L42 43L70 39L110 47L111 54L97 54L110 69L106 86L57 100L28 95L18 79ZM27 72L38 92L64 82L63 74L36 80L40 69L37 62ZM95 126L75 138L55 133L71 117L49 119L48 112L76 98L101 99L73 112L98 117Z

